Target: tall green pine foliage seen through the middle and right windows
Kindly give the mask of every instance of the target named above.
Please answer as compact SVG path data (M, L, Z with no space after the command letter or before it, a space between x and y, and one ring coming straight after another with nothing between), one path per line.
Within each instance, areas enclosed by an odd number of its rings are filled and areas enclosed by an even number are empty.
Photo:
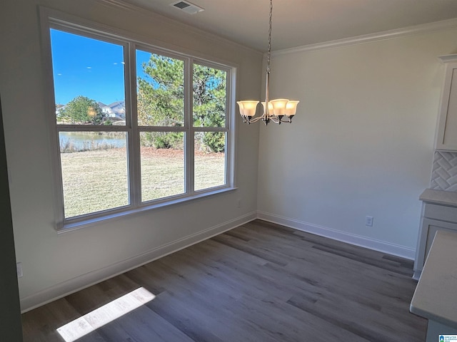
M151 54L143 65L146 78L138 78L139 125L184 125L184 62ZM225 125L226 72L194 64L193 79L194 125L222 127ZM176 148L181 135L151 133L149 145ZM196 136L199 145L214 152L224 152L224 133L204 133ZM148 142L143 141L145 145Z

